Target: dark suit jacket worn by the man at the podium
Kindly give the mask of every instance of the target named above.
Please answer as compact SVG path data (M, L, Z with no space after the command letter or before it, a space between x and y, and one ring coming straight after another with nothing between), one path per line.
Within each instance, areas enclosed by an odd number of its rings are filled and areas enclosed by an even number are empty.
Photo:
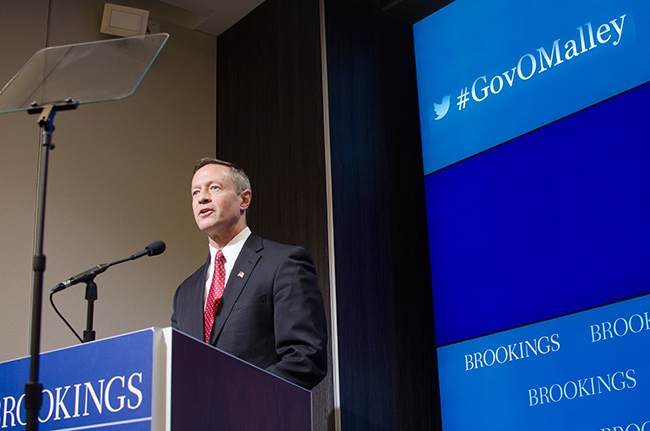
M172 314L172 327L201 341L208 261L178 287ZM210 344L307 389L320 382L327 323L309 253L251 234L226 283Z

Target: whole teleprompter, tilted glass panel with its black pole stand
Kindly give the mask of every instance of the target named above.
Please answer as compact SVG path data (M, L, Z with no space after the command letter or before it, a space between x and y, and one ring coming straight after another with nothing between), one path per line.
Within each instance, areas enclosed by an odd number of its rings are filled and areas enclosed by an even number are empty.
M39 383L45 201L54 117L80 104L124 99L133 94L169 38L166 33L45 48L0 92L0 114L38 114L41 128L32 262L30 376L25 385L26 430L38 430L43 386Z

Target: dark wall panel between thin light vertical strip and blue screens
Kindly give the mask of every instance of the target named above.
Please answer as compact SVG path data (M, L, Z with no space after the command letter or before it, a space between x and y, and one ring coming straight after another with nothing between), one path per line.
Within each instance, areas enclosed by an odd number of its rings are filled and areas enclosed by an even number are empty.
M439 429L411 26L326 0L343 430Z

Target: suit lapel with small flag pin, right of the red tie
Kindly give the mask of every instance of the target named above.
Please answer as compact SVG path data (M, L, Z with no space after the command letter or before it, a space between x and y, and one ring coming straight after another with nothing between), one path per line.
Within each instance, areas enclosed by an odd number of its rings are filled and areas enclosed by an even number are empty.
M246 283L261 257L259 252L262 248L261 238L251 233L235 261L232 273L228 277L228 282L226 283L226 288L223 297L221 298L219 308L217 309L217 315L214 319L210 344L216 344L216 340L219 338L221 330L223 329L226 320L228 320L230 312L237 303L239 295L241 295L241 292L246 287Z

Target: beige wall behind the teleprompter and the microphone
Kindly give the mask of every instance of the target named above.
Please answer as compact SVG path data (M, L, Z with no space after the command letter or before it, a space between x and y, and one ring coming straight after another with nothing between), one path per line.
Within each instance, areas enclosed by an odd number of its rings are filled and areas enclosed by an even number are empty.
M104 1L3 2L0 86L37 50L110 38L99 32ZM138 6L129 0L115 2ZM156 19L152 11L150 19ZM159 20L170 39L135 94L81 105L55 119L45 221L42 350L78 341L52 310L58 282L128 257L161 239L167 251L97 277L97 338L169 326L176 286L207 251L194 225L191 168L214 156L216 38ZM28 354L39 129L25 112L0 115L0 361ZM81 334L85 285L55 295Z

